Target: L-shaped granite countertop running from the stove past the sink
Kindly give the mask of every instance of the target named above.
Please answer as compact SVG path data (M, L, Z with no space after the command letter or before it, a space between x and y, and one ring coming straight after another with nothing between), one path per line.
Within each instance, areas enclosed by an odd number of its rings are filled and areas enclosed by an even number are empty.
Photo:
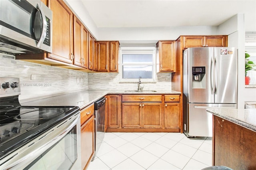
M124 91L124 90L83 90L74 93L55 95L34 101L20 101L24 106L78 106L80 109L97 101L108 94L181 94L178 91L159 90L152 91Z

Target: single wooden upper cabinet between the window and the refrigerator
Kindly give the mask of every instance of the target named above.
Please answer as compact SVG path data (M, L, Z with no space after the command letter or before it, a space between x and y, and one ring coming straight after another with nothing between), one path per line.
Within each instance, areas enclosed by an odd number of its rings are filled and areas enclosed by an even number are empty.
M175 41L159 41L156 43L156 53L158 72L176 71Z

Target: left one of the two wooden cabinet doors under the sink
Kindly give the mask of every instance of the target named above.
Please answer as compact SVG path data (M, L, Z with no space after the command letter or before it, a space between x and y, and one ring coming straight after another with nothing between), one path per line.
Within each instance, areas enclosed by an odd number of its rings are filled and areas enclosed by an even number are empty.
M142 103L122 103L122 128L142 127Z

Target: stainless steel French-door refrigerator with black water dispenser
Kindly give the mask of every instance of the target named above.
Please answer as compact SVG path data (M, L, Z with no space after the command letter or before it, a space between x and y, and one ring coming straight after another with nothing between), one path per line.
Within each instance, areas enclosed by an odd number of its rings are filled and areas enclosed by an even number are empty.
M237 51L188 48L183 56L183 126L186 136L212 136L207 108L237 107Z

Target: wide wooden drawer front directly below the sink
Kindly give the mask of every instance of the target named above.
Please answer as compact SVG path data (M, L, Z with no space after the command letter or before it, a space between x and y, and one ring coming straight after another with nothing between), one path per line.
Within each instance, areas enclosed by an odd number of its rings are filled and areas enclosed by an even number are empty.
M122 95L122 102L162 102L162 95Z

